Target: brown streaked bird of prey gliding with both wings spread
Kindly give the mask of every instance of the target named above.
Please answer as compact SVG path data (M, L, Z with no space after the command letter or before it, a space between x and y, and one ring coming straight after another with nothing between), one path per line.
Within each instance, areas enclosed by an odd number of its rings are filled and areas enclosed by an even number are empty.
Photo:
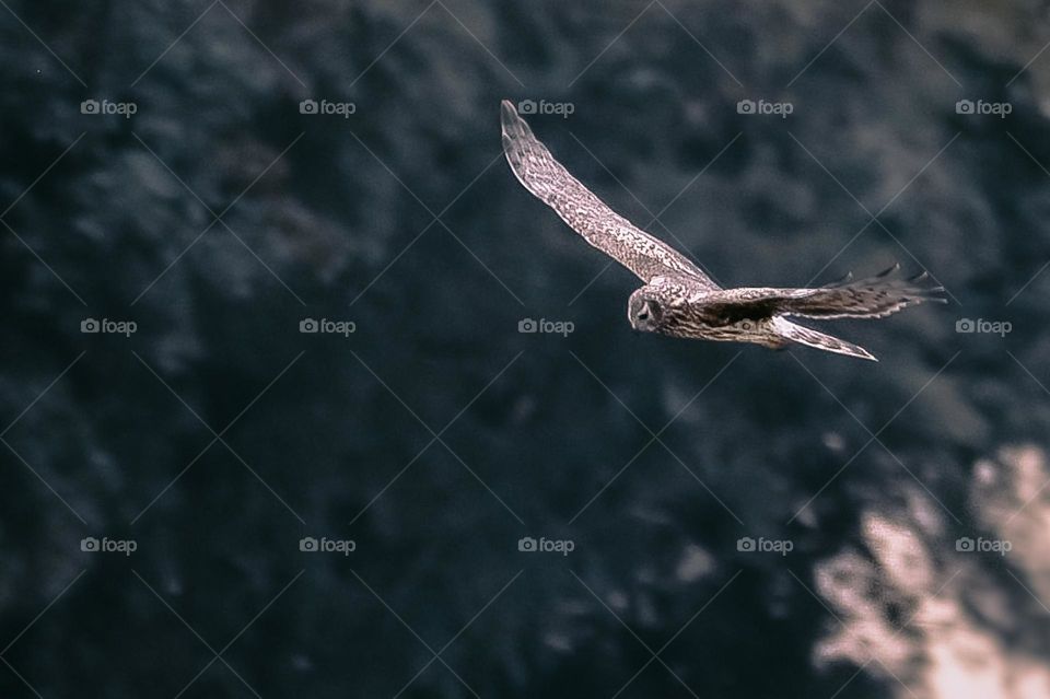
M797 342L878 361L862 347L789 318L882 318L923 301L945 302L936 295L943 287L921 283L926 272L896 277L899 265L876 277L854 281L850 275L815 289L722 289L685 255L632 225L570 175L506 100L500 116L503 151L517 179L587 243L645 282L627 304L635 330L777 349Z

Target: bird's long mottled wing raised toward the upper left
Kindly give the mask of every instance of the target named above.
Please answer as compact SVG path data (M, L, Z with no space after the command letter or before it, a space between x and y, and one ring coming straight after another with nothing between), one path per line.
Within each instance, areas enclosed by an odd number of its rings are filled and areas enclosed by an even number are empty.
M570 175L506 100L500 105L500 121L503 152L518 182L591 245L645 282L661 275L673 275L688 277L712 291L719 289L689 258L632 225Z

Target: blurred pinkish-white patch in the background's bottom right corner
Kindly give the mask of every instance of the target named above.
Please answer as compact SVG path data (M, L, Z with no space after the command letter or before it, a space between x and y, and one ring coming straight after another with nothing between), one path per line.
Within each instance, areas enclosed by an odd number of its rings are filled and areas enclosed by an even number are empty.
M901 698L1050 697L1038 641L1050 620L1048 482L1047 455L1034 446L1004 448L975 466L970 505L981 534L1012 544L999 561L957 550L944 534L946 515L919 486L905 512L865 513L870 556L843 551L815 572L818 594L841 621L818 643L815 664L855 664Z

